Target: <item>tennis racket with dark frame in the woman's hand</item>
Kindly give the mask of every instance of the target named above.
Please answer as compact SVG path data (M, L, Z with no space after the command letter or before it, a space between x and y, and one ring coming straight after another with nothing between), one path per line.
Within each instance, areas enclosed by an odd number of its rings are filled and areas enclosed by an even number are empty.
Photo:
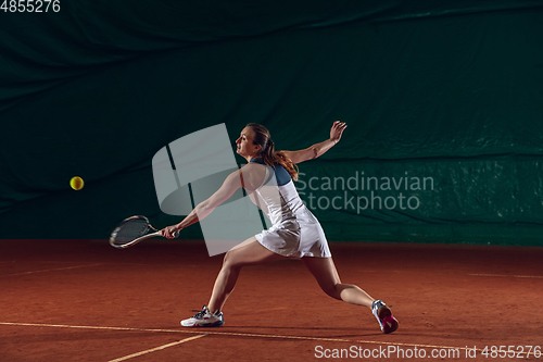
M111 234L110 244L112 247L124 249L141 240L154 238L155 236L161 236L161 232L152 227L146 216L131 216L123 220L123 222L115 227ZM178 237L179 232L175 232L174 236Z

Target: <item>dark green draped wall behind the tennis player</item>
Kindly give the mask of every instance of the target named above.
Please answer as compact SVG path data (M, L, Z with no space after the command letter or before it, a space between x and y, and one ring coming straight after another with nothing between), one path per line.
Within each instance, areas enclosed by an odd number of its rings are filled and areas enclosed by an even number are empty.
M342 120L299 165L330 240L543 245L543 1L61 7L0 12L0 238L165 226L151 159L169 141L257 122L292 150ZM351 207L371 198L396 204Z

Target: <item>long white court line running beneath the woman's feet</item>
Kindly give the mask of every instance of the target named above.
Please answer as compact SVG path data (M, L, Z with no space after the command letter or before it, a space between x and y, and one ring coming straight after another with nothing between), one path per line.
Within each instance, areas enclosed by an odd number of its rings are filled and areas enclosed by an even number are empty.
M56 327L56 328L78 328L78 329L105 329L105 330L130 330L130 332L165 332L165 333L181 333L181 334L198 334L201 332L182 330L182 329L149 329L149 328L130 328L130 327L100 327L100 326L81 326L81 325L64 325L64 324L41 324L41 323L12 323L0 322L0 325L14 325L14 326L31 326L31 327ZM417 345L417 344L402 344L402 342L387 342L382 340L353 340L343 338L323 338L323 337L307 337L307 336L281 336L281 335L263 335L253 333L235 333L235 332L205 332L205 335L217 336L238 336L238 337L257 337L257 338L277 338L277 339L298 339L298 340L318 340L318 341L339 341L339 342L357 342L370 345L386 345L386 346L400 346L400 347L421 347L421 348L439 348L439 349L457 349L457 350L473 350L468 347L451 347L451 346L433 346L433 345ZM202 335L200 335L202 336ZM202 336L203 337L203 336ZM483 351L482 349L475 349L476 351ZM519 352L518 354L526 354L527 352Z

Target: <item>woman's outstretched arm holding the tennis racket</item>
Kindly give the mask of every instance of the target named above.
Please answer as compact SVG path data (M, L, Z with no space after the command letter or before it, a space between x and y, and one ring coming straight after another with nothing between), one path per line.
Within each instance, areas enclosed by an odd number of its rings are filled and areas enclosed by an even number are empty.
M167 226L161 230L162 236L172 239L173 234L192 225L212 213L216 207L228 200L241 187L241 171L232 172L226 177L223 186L207 200L200 202L179 224Z

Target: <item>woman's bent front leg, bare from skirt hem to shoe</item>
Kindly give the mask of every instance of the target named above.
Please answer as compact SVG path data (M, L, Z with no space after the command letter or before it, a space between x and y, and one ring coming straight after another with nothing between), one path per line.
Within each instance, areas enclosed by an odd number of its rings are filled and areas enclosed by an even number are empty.
M212 313L223 309L226 299L236 286L241 267L245 265L268 263L281 259L285 259L285 257L264 248L256 241L254 236L232 248L225 255L223 267L215 280L207 309Z

